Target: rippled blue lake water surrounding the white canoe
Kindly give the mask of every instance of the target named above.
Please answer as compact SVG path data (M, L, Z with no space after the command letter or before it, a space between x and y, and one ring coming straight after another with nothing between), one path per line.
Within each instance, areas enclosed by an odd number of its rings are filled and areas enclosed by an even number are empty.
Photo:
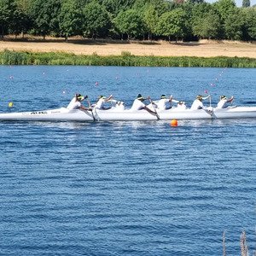
M0 112L75 92L256 105L254 69L0 67ZM8 103L14 102L14 108ZM206 102L208 104L208 102ZM0 122L0 255L240 254L256 248L256 120Z

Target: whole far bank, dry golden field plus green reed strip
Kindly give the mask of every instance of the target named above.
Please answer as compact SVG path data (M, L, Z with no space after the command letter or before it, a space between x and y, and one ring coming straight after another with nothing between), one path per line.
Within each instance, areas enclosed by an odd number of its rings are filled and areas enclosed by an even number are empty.
M125 42L60 38L0 41L3 65L256 67L256 44Z

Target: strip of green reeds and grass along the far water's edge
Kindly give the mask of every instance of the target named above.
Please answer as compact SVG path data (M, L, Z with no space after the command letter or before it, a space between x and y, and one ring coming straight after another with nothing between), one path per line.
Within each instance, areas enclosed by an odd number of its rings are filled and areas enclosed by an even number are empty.
M68 53L37 53L4 50L0 52L2 65L84 65L134 67L256 67L254 58L238 57L160 57L136 56L130 52L121 55L99 56Z

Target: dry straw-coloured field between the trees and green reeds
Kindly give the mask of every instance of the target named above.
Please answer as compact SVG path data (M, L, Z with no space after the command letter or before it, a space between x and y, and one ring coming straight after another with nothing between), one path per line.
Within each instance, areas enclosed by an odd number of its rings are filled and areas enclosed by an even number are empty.
M65 42L61 38L14 40L6 38L0 41L0 51L4 49L27 52L72 53L75 55L123 55L136 56L195 56L195 57L247 57L256 59L256 43L233 41L172 42L165 41L113 41L72 38Z

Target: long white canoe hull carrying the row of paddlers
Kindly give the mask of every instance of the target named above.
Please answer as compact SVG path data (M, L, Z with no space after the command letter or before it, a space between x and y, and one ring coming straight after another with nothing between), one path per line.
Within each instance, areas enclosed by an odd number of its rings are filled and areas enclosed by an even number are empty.
M171 108L155 110L149 113L142 109L110 108L102 110L94 108L92 111L67 108L57 108L43 111L0 113L0 120L5 121L145 121L171 119L244 119L256 118L256 107L228 107L191 110L189 108Z

